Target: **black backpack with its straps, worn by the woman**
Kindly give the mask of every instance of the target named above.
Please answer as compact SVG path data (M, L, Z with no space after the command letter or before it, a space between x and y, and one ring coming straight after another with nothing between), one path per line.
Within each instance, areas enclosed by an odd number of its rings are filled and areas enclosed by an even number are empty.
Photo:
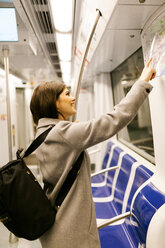
M0 169L0 221L17 237L35 240L54 223L58 207L72 186L83 159L83 152L70 170L52 207L44 190L26 166L24 158L45 140L52 126L39 135L23 157L10 161Z

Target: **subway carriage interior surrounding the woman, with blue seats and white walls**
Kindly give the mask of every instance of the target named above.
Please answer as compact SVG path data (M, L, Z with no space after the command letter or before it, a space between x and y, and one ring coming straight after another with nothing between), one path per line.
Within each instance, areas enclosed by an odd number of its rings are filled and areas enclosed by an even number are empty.
M153 90L135 118L88 149L102 248L165 247L165 1L0 0L1 167L35 137L38 84L64 81L76 98L70 121L87 121L113 111L149 58ZM27 163L42 184L35 153ZM1 221L0 247L41 244Z

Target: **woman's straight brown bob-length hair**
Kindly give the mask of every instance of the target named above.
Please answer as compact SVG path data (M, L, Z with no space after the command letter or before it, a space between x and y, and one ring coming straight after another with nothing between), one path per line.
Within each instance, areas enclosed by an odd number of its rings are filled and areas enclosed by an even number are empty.
M65 87L61 81L50 81L42 82L34 89L30 110L36 125L41 118L58 118L56 100Z

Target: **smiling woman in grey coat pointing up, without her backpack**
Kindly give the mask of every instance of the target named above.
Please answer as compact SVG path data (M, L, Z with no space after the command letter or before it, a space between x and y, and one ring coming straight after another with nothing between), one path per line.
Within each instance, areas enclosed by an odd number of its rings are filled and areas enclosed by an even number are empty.
M75 98L70 96L62 82L41 83L34 90L30 108L37 125L37 135L54 125L37 149L43 180L52 185L47 189L47 196L53 206L80 153L109 139L136 115L152 89L149 80L155 76L155 70L150 69L150 61L114 111L94 120L81 123L68 121L68 117L76 113ZM86 151L80 173L59 208L54 225L40 241L43 248L100 247L91 192L90 161Z

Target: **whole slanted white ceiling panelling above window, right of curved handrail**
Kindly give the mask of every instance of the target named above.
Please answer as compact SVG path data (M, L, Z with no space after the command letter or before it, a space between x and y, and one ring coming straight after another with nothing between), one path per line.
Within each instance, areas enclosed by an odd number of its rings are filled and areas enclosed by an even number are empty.
M141 47L141 31L165 0L118 0L84 79L111 72ZM99 59L98 59L99 58Z

